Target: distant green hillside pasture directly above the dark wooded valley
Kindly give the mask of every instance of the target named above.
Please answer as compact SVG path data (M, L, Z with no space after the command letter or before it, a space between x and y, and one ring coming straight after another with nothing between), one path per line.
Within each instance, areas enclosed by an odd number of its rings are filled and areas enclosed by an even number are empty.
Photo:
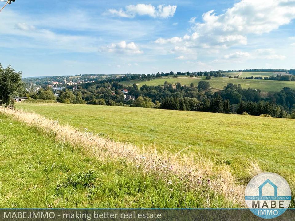
M181 83L182 85L189 86L191 83L193 83L195 86L198 85L199 81L206 80L204 76L200 78L190 78L190 77L178 77L178 78L172 78L172 77L164 77L164 78L157 78L152 80L132 80L129 82L121 82L125 85L132 85L133 83L136 83L139 87L142 85L164 85L164 82L167 81L168 83L176 84L177 82ZM224 86L226 86L228 83L233 84L241 84L242 88L248 89L254 88L254 89L260 89L262 92L276 92L281 91L284 87L290 87L291 89L295 89L295 82L294 81L271 81L271 80L254 80L254 79L236 79L236 78L224 78L224 77L214 77L210 80L206 80L210 83L210 86L223 90Z

